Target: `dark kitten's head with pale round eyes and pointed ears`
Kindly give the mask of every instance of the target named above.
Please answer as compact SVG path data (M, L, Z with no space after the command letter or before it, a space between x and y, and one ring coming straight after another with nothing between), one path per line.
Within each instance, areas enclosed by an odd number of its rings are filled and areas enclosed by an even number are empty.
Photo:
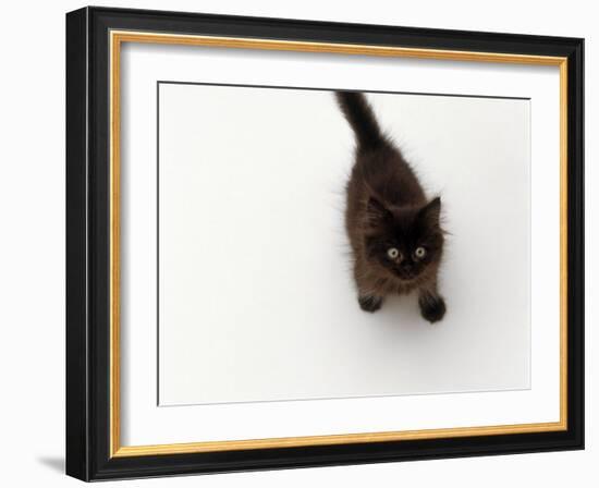
M443 251L441 198L421 207L386 206L371 197L366 208L368 260L402 282L417 282L436 271Z

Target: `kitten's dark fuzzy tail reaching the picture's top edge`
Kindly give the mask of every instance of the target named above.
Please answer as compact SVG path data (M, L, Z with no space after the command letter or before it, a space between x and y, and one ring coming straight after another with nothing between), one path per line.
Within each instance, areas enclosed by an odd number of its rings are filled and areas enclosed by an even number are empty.
M375 112L363 94L337 91L337 101L354 130L358 148L372 149L384 143Z

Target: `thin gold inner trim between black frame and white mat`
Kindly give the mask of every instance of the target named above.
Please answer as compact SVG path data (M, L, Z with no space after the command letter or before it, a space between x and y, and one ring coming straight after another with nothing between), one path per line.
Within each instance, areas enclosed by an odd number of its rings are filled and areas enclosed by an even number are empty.
M567 59L561 57L455 51L334 42L304 42L236 37L110 32L110 456L181 454L451 437L547 432L567 429ZM203 46L233 49L322 52L450 61L552 65L560 69L560 420L551 423L400 430L329 436L121 446L120 375L120 54L123 42Z

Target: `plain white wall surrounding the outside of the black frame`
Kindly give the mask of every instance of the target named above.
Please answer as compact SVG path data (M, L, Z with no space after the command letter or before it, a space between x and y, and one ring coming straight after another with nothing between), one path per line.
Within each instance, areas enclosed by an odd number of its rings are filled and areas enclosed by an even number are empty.
M592 38L599 27L591 3L516 2L492 5L479 2L429 1L414 3L294 2L173 0L168 4L146 2L98 2L122 7L176 9L213 13L304 17L346 22L388 23L447 28L569 35L587 38L587 87L591 88L598 61L592 59ZM2 341L0 366L3 394L3 481L13 486L44 484L75 486L62 476L64 411L64 12L82 3L28 2L3 11L9 20L2 29L3 76L2 173L0 208L2 233ZM588 7L587 7L588 5ZM35 35L33 35L35 34ZM597 133L597 103L587 93L587 188L599 184L590 151ZM587 191L587 247L596 241L592 208L596 198ZM597 260L587 255L587 351L597 347L591 334L590 290ZM591 383L597 363L587 359L587 450L585 452L517 456L441 460L433 462L351 466L131 481L127 486L305 486L316 484L362 486L398 483L435 486L503 487L510 484L558 487L591 486L597 477L598 432L591 412ZM114 485L117 486L117 485ZM122 486L122 485L119 485Z

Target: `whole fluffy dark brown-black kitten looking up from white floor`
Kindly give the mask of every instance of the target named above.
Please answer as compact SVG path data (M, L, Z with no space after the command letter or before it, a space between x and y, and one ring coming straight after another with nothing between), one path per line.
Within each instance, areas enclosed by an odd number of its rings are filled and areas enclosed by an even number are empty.
M357 143L345 228L359 306L376 312L386 295L418 290L423 317L441 320L445 314L437 290L443 252L441 199L426 198L400 149L381 133L363 94L338 91L337 99Z

